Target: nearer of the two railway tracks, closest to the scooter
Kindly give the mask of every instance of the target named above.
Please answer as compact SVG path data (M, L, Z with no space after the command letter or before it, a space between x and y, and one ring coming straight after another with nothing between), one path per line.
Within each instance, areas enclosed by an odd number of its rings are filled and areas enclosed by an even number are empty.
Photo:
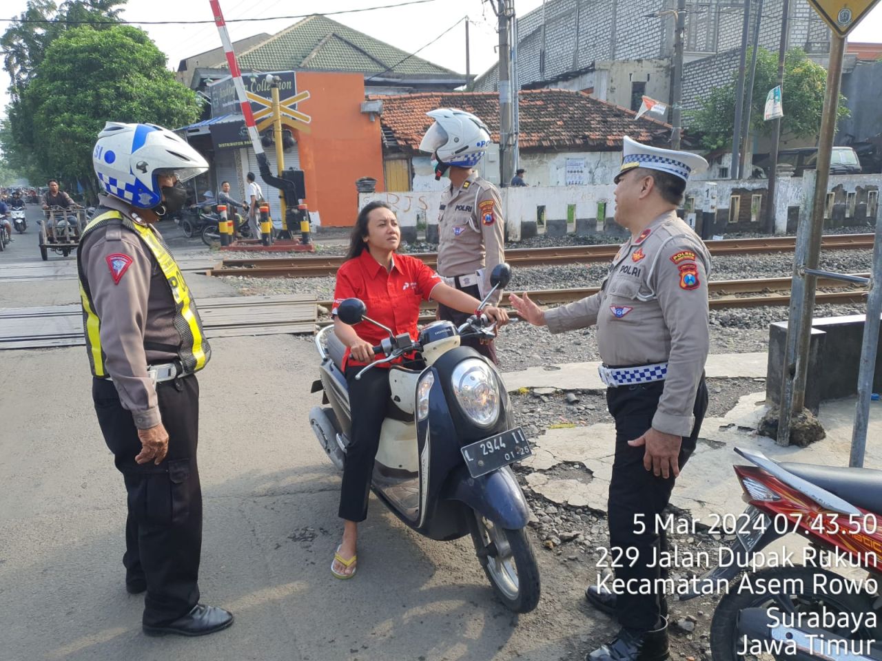
M869 278L869 273L856 273L855 275ZM765 305L789 305L790 303L790 279L789 278L759 278L745 280L711 280L708 285L710 293L709 304L711 308L754 308ZM580 301L593 293L600 291L600 287L580 287L573 289L543 289L528 292L530 298L540 305L565 305L573 301ZM523 292L512 292L523 296ZM839 280L818 278L818 291L815 293L815 301L818 303L843 304L865 303L867 288L843 284ZM508 305L504 297L503 305ZM330 309L333 301L318 301L318 305ZM432 302L423 303L422 309L430 312L435 309ZM428 317L427 317L428 318Z

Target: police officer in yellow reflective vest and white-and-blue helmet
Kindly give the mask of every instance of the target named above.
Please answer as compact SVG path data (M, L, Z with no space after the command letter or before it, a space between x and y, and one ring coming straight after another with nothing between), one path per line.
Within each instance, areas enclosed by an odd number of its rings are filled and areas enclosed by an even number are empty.
M156 221L206 160L153 124L108 122L93 149L104 194L77 251L92 396L128 493L125 587L147 635L205 635L233 615L199 603L199 386L211 347Z

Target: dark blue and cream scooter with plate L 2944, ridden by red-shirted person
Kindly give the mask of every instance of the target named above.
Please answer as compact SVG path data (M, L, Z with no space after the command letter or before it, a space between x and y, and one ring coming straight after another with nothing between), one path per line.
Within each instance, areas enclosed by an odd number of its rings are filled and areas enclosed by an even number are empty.
M511 279L508 264L493 270L493 289ZM371 488L404 524L425 537L449 540L471 535L475 553L497 597L515 613L539 602L540 579L527 538L529 509L510 464L532 454L514 424L505 384L497 368L460 338L491 338L486 316L471 316L460 328L430 323L414 340L365 316L363 301L347 299L340 321L374 323L389 333L376 360L356 376L415 353L418 360L389 368L392 398L380 434ZM351 417L342 358L345 347L327 326L316 336L322 357L323 404L310 411L310 426L338 469L346 461Z

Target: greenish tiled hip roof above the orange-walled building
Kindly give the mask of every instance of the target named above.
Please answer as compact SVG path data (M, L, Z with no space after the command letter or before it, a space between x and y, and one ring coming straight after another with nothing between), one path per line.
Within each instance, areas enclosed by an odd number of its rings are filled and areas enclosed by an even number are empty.
M354 71L392 76L457 77L461 74L353 30L324 16L310 16L238 56L253 71ZM407 59L405 59L407 58ZM404 60L404 62L401 62Z

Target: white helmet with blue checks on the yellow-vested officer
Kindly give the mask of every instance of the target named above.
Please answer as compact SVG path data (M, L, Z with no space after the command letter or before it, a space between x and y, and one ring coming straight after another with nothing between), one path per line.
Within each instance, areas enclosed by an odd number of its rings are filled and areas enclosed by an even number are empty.
M170 130L119 122L106 123L98 134L92 164L108 195L160 216L183 206L186 191L183 186L167 189L163 203L157 175L176 175L182 183L208 169L202 155Z

